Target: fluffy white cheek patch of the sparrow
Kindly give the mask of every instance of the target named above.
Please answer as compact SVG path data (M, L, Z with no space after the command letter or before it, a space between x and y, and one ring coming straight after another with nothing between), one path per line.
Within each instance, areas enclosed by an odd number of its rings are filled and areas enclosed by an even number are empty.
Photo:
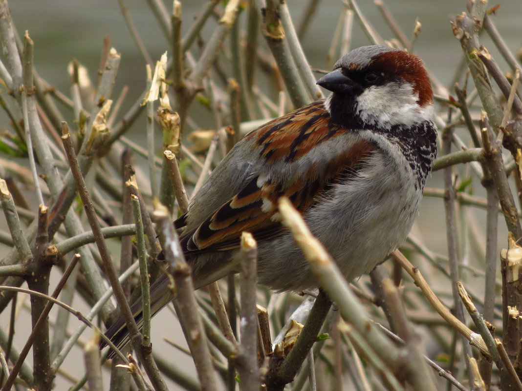
M411 84L390 82L367 88L355 101L362 120L390 128L432 119L433 105L420 107L418 99L419 94L413 92Z

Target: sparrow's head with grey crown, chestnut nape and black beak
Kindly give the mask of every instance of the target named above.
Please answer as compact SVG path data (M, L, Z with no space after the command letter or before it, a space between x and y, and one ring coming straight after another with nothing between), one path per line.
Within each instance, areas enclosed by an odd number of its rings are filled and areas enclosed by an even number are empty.
M325 106L343 126L389 129L433 117L433 94L422 60L391 47L354 49L317 84L333 92Z

